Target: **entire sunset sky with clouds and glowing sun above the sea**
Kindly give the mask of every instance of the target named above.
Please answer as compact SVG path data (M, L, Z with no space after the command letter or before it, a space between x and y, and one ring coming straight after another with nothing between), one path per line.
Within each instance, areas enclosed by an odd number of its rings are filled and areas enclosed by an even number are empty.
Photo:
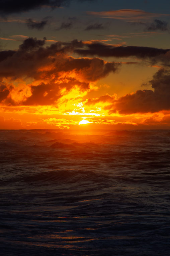
M0 129L170 129L169 0L0 4Z

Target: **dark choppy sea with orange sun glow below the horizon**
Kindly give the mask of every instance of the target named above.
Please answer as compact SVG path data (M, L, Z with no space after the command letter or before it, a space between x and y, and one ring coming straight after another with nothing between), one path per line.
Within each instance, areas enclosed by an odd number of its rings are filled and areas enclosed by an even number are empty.
M0 255L170 255L170 131L0 130Z

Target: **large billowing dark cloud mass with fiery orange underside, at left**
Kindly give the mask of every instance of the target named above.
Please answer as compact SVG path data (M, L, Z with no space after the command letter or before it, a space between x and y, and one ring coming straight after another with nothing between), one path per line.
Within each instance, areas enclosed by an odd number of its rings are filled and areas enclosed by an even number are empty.
M64 93L75 86L80 90L89 90L90 82L97 81L118 69L119 63L104 61L100 58L74 58L67 53L82 42L56 42L44 47L46 39L28 38L14 52L2 52L0 62L0 78L15 81L16 79L31 78L33 83L28 85L29 95L16 102L13 95L23 95L24 89L3 85L1 100L7 105L47 105L57 102ZM1 52L0 52L1 56ZM17 93L14 93L15 90ZM30 95L31 94L31 95ZM18 96L17 96L18 97Z

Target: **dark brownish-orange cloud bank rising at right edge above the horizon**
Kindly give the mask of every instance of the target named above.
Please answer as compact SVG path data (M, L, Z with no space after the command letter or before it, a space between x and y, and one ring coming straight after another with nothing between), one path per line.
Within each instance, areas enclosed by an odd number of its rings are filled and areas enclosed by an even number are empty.
M110 113L117 110L120 114L154 113L170 110L170 71L160 69L150 81L152 90L138 90L115 101Z

